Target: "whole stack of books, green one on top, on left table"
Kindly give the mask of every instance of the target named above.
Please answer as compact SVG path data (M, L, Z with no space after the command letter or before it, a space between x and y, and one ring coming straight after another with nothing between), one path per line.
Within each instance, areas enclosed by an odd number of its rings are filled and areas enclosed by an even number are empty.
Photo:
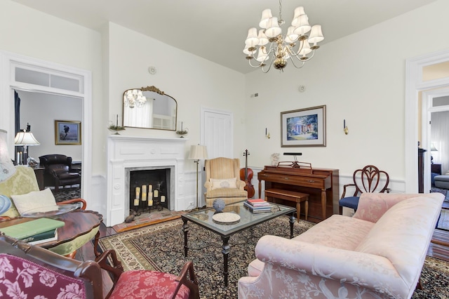
M49 218L39 218L17 225L0 228L0 232L19 239L29 244L41 244L58 239L58 227L65 225L65 222Z

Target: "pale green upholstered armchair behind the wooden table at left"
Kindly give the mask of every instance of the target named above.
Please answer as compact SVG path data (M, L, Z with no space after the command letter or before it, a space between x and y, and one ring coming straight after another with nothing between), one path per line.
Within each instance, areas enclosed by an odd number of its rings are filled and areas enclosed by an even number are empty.
M24 196L26 194L33 194L31 192L35 192L34 194L36 195L31 196L32 200L29 202L28 206L34 206L35 204L38 204L38 202L36 201L39 201L39 198L41 198L41 196L43 197L43 193L48 192L49 194L51 194L50 190L42 190L42 191L39 190L39 186L37 185L36 175L34 174L33 168L27 166L15 166L15 172L13 173L13 175L11 175L11 177L7 178L6 180L0 182L0 194L8 197L11 200L11 207L4 213L0 214L0 221L21 217L20 211L14 204L13 197ZM86 201L81 198L68 199L65 201L59 201L58 203L55 203L53 197L53 203L79 204L81 209L83 210L86 209ZM27 206L26 202L22 202L21 204L22 206ZM76 245L77 247L86 244L88 241L90 241L95 237L95 234L98 233L98 230L99 227L95 227L93 230L91 230L91 232L88 232L87 234L83 234L72 241L51 248L51 251L54 251L55 253L58 253L60 255L72 256L74 255L73 251L74 244L77 244Z

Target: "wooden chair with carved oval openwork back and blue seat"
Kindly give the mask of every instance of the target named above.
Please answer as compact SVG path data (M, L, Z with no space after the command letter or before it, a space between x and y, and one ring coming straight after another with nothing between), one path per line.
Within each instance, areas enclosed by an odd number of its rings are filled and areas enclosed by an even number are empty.
M361 169L354 171L352 175L353 183L343 186L343 193L338 204L340 206L340 215L343 213L343 207L353 208L354 211L358 207L358 199L360 194L364 192L387 192L389 184L389 175L385 171L379 170L376 166L367 165ZM346 196L347 189L354 188L352 196Z

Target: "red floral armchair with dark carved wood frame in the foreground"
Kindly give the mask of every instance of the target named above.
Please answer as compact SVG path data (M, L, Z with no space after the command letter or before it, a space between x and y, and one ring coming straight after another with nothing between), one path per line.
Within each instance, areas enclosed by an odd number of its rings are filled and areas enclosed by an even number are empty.
M97 262L81 262L1 234L0 265L0 294L4 295L113 299L142 298L138 294L143 293L145 298L199 298L192 262L177 277L149 270L123 272L115 251L105 251ZM113 277L110 291L105 288L104 271Z

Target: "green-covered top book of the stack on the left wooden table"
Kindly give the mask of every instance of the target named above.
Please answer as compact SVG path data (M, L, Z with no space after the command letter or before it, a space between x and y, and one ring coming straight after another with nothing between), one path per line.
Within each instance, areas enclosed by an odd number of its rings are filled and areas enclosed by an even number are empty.
M41 232L48 232L58 227L65 225L65 222L60 220L54 220L50 218L39 218L27 222L20 223L18 225L11 225L8 227L0 228L0 232L4 232L10 237L15 239L25 239L27 237L40 234Z

